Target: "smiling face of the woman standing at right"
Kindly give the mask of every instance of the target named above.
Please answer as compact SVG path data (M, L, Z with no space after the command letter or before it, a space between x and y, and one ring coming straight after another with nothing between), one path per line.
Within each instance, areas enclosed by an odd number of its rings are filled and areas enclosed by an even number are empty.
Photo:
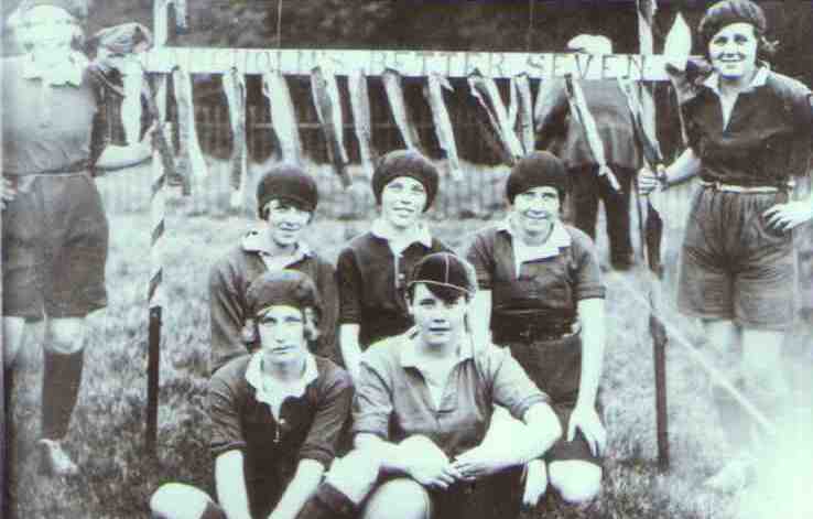
M750 82L757 67L758 40L750 23L731 23L708 42L708 57L720 77Z

